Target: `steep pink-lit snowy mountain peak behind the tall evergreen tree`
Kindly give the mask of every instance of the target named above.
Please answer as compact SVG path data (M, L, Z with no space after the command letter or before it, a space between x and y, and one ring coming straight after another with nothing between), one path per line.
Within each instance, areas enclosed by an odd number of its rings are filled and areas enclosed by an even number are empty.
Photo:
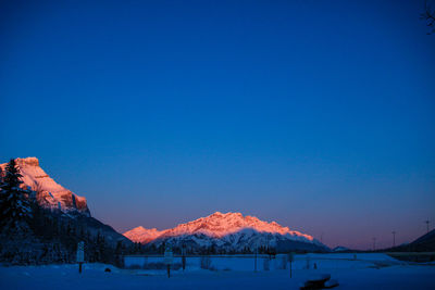
M39 166L37 157L15 159L15 162L23 175L24 186L36 191L38 204L45 209L60 210L63 213L80 213L90 216L86 199L79 197L61 185L57 184ZM8 163L0 164L4 169Z

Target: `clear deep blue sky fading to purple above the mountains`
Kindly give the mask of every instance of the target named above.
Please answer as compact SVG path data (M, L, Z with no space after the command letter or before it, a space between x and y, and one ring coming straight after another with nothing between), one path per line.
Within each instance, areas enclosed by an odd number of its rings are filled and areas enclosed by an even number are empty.
M120 231L215 211L330 247L435 224L424 1L2 1L0 163Z

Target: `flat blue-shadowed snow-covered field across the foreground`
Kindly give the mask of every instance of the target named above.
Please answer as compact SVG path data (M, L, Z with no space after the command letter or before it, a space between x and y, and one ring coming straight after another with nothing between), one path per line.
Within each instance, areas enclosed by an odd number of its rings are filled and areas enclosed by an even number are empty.
M164 270L119 269L103 264L85 264L80 275L77 265L0 267L0 289L298 289L310 275L320 273L337 279L338 289L435 289L434 264L411 265L384 254L357 254L357 260L353 254L297 255L293 278L288 265L286 269L271 266L254 273L248 269L247 261L252 262L247 257L212 257L217 270L206 270L190 260L186 272L174 270L171 278ZM221 269L223 265L225 269ZM107 267L112 272L104 273Z

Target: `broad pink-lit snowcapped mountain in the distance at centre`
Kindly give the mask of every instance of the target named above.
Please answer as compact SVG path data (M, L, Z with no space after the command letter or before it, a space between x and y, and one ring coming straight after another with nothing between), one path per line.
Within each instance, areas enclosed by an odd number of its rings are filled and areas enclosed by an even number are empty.
M160 247L170 242L173 247L186 244L189 249L214 248L215 250L243 251L260 247L273 247L278 251L327 251L328 248L313 237L290 230L275 222L268 223L240 213L216 212L207 217L181 224L172 229L157 230L137 227L124 232L128 239Z

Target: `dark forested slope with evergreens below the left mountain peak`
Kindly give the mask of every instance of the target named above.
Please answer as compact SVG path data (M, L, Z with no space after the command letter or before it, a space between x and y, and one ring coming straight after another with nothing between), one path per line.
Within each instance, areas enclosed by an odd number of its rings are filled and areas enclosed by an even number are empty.
M11 160L0 172L0 262L3 264L73 263L79 241L85 261L120 264L133 242L80 211L46 207L22 181Z

